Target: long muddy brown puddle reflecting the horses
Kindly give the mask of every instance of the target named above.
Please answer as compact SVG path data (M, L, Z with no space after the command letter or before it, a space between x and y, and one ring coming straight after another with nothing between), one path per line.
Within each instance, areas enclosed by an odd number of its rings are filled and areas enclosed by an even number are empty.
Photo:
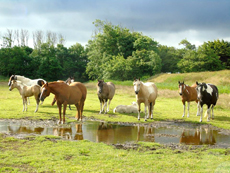
M0 133L17 137L54 135L69 140L89 140L106 144L137 141L160 144L218 145L230 147L230 133L210 125L159 122L149 125L119 125L95 121L72 124L69 127L33 127L20 121L0 121Z

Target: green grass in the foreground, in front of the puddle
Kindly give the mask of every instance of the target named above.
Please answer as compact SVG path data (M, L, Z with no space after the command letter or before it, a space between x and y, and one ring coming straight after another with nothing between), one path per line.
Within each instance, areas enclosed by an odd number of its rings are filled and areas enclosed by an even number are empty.
M229 170L230 150L173 150L139 143L133 150L46 136L19 140L0 135L0 172L214 172ZM221 167L222 165L222 167ZM223 167L224 166L224 167Z

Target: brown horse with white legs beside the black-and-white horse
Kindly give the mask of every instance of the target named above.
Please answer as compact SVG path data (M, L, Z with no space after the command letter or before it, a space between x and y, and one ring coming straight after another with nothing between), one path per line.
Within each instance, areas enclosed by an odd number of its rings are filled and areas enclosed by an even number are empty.
M188 114L187 117L189 117L189 106L190 106L190 102L195 101L197 104L197 116L200 115L200 102L197 98L197 91L196 91L196 84L193 84L191 87L186 85L183 82L178 81L179 84L179 94L181 96L181 101L184 105L184 113L182 115L182 117L185 116L185 106L186 106L186 102L188 102Z

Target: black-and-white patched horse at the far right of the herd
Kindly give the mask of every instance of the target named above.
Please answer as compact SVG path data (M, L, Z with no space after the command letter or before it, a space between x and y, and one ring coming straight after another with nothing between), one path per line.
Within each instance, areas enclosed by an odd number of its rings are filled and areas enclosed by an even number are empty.
M206 114L208 114L207 121L211 118L211 109L212 109L212 119L214 119L213 108L216 105L216 102L219 98L218 88L213 84L198 83L196 82L197 87L197 97L200 100L200 122L202 122L203 116L203 105L206 104L208 109Z

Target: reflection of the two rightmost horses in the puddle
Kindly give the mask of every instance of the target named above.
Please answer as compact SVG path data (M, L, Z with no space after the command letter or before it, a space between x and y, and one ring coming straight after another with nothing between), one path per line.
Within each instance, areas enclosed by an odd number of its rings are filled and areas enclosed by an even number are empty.
M183 130L180 143L186 145L214 145L216 143L217 131L210 127L199 127L195 130Z

